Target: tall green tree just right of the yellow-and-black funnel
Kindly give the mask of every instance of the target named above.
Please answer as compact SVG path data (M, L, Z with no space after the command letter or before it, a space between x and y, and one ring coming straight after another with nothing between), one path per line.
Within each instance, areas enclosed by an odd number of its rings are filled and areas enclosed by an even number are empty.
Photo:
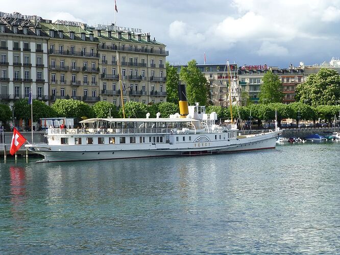
M205 106L207 103L207 80L197 68L196 60L189 61L187 67L182 66L180 79L186 84L188 104L193 105L198 102L201 106Z

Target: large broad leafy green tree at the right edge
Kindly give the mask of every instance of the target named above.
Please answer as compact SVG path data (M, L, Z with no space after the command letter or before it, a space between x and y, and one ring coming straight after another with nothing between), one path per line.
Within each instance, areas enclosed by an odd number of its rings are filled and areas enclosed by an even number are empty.
M295 99L313 107L334 105L340 98L340 78L337 71L321 68L318 73L310 74L307 81L299 84Z

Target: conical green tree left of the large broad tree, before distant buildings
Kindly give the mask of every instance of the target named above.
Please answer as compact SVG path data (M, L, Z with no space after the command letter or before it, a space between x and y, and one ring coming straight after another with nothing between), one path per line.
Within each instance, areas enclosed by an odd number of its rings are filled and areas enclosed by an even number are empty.
M283 87L277 74L269 71L263 75L263 84L261 85L259 101L264 104L282 103Z

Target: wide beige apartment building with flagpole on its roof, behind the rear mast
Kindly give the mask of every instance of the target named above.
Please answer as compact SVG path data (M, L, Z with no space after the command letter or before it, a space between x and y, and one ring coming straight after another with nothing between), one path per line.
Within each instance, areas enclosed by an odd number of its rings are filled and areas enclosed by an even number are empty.
M149 33L132 33L114 25L87 27L99 40L100 96L120 106L123 101L144 104L166 101L165 45ZM120 84L120 81L122 84Z

